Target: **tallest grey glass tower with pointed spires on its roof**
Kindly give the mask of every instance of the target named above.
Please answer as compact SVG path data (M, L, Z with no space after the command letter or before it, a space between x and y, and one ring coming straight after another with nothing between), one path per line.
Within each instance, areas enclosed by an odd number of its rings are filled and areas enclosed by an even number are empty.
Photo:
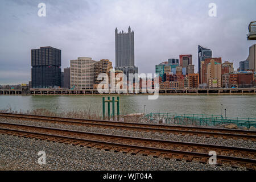
M134 31L119 32L115 28L115 69L122 71L127 80L129 73L138 73L134 65Z

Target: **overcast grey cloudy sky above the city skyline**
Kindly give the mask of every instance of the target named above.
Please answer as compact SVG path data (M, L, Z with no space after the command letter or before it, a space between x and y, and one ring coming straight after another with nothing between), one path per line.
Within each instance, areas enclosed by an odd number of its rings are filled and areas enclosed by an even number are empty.
M38 4L46 3L46 17ZM217 16L210 17L209 3ZM61 68L69 60L109 59L115 66L115 27L134 30L135 65L139 73L154 73L155 65L181 54L192 54L197 72L197 46L234 68L249 55L248 25L256 20L256 1L115 1L1 0L0 84L31 80L31 49L61 49Z

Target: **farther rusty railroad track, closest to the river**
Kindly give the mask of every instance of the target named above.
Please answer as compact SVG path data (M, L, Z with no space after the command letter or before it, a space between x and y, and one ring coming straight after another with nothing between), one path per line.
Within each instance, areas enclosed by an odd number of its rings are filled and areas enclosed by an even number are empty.
M222 137L224 139L243 139L256 141L256 131L253 130L236 130L236 129L217 129L209 127L193 127L193 126L174 126L174 125L156 125L148 123L128 123L115 121L101 121L92 119L77 119L77 118L62 118L62 117L48 117L42 115L28 115L28 114L13 114L0 113L0 117L24 119L40 122L63 123L67 125L82 125L93 127L105 127L114 129L126 129L159 133L173 133L181 135L197 135L205 137Z

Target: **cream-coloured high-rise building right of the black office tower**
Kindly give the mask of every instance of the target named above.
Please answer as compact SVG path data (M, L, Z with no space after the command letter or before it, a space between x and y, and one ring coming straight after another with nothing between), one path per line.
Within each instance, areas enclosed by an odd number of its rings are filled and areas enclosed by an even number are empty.
M71 88L93 89L95 61L90 57L70 60Z

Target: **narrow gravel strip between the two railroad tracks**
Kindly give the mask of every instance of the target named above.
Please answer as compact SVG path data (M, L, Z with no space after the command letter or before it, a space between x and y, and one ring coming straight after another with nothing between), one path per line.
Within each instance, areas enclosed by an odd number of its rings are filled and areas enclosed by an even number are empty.
M0 122L23 123L25 125L55 127L59 129L78 130L78 131L113 134L113 135L124 135L129 137L152 138L152 139L163 139L163 140L175 140L179 142L195 142L195 143L216 144L216 145L223 145L223 146L256 148L256 142L253 142L251 140L242 140L242 139L236 139L236 140L223 139L221 137L207 138L207 137L197 137L192 135L180 135L180 134L175 135L171 133L167 134L167 133L152 133L152 132L133 131L133 130L121 130L121 129L104 129L100 127L63 125L63 124L57 124L57 123L35 122L35 121L20 121L18 119L5 119L5 118L1 118Z

